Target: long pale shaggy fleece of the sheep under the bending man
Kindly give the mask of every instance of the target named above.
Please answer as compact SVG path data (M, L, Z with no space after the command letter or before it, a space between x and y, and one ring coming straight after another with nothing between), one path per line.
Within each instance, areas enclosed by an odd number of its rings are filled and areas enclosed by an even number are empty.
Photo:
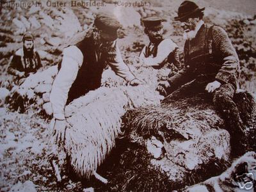
M76 173L88 178L97 170L115 146L127 109L159 102L159 93L146 85L100 87L71 102L65 110L70 124L65 150Z

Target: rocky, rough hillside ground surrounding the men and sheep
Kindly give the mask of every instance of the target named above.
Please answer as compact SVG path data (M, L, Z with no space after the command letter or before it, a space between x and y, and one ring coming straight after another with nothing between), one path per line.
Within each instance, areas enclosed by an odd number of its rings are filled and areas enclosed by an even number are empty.
M114 4L106 1L107 9L115 8ZM164 22L165 36L170 37L179 45L180 56L182 58L182 32L179 22L173 21L175 10L181 1L150 1L150 6L141 6L135 8L116 8L115 12L122 15L120 22L123 29L120 30L119 44L124 57L124 61L129 64L132 70L136 71L138 54L144 44L147 44L147 36L143 35L143 29L140 26L140 17L147 15L159 15L166 19ZM228 1L229 2L229 1ZM204 1L201 6L207 6L205 10L205 22L218 24L225 28L230 36L237 53L241 60L241 88L249 92L256 93L256 17L253 15L254 1L238 1L237 3L225 4L223 1L214 2L209 7L209 1ZM25 31L32 31L35 35L35 47L40 50L40 56L44 67L42 70L55 65L60 60L60 54L63 46L68 39L76 35L77 32L86 30L92 24L95 13L99 10L95 6L83 8L75 6L73 8L54 8L46 6L46 1L42 1L40 8L32 6L29 8L1 8L0 20L0 74L1 87L12 90L12 78L6 73L8 60L10 56L22 45L22 34ZM201 2L200 2L201 3ZM221 3L221 6L220 6ZM243 4L243 6L237 6ZM223 5L223 6L222 6ZM226 9L227 7L227 9ZM251 7L250 9L248 7ZM223 8L225 8L223 10ZM228 11L227 11L228 10ZM128 19L129 18L129 19ZM68 26L68 28L67 28ZM108 71L109 72L109 71ZM106 72L106 79L111 76ZM111 73L111 72L109 72ZM141 79L148 79L149 72L138 72ZM106 84L106 79L102 80L104 86L113 86ZM120 82L120 79L115 79ZM113 82L115 82L113 80ZM105 82L105 84L104 84ZM112 82L112 81L111 81ZM48 82L51 83L51 82ZM47 83L46 83L47 84ZM114 84L115 85L115 84ZM39 89L39 88L38 88ZM42 86L41 86L42 89ZM35 92L35 87L33 88ZM168 182L166 175L159 175L160 181L154 180L152 186L143 188L141 183L135 188L136 179L145 180L149 183L151 179L156 178L159 172L147 170L150 166L148 154L145 154L145 148L127 144L128 147L113 150L108 161L99 168L99 173L108 177L108 185L103 185L95 179L79 180L75 176L65 176L61 183L57 183L52 172L52 168L47 159L47 130L49 129L49 119L40 116L40 107L47 102L47 98L42 100L40 96L47 93L43 89L40 94L35 93L36 105L28 103L26 113L20 114L10 111L8 104L1 100L0 108L0 131L1 131L1 150L0 150L0 188L1 191L143 191L143 189L156 191L171 190L172 184ZM1 92L3 93L3 92ZM41 94L42 93L42 94ZM41 99L41 100L40 100ZM121 140L120 142L125 142ZM119 143L120 144L120 143ZM116 143L118 145L118 141ZM121 145L122 146L122 145ZM134 154L142 154L140 159L134 159ZM128 161L122 161L120 164L113 164L113 157L120 157ZM111 163L112 162L112 163ZM127 164L127 162L130 162ZM219 162L221 164L223 162ZM144 164L143 167L138 164ZM220 166L220 174L228 165ZM116 168L113 171L113 168ZM130 168L130 172L127 172ZM132 177L132 173L140 173ZM215 173L216 174L216 173ZM127 176L127 177L126 177ZM189 179L195 178L189 177ZM198 176L197 176L198 177ZM207 178L211 175L207 175ZM129 178L130 180L128 180ZM207 179L205 177L205 179ZM204 178L189 182L196 184L202 182ZM184 186L180 186L183 188ZM175 186L175 189L178 189Z

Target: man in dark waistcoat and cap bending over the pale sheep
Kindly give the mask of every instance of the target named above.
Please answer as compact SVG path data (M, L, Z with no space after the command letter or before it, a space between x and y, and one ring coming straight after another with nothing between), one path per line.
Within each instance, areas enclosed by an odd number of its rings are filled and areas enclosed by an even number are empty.
M52 84L50 102L55 118L56 141L64 140L65 105L100 87L102 72L109 65L132 86L140 84L125 65L117 44L120 23L111 13L99 13L87 32L63 50L59 72ZM78 41L78 42L77 42Z

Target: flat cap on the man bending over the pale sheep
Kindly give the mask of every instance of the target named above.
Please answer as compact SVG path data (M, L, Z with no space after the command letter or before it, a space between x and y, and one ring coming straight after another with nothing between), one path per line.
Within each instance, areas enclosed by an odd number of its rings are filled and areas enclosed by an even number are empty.
M111 13L98 13L94 20L94 25L102 30L102 37L108 40L117 38L117 30L121 27L115 15Z

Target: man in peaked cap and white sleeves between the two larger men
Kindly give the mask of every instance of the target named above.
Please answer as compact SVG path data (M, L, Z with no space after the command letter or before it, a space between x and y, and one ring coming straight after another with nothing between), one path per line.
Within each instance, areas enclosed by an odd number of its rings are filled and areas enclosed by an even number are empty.
M142 65L161 68L169 63L180 70L182 67L179 61L178 45L170 38L163 38L162 19L153 16L144 18L142 21L145 27L144 31L150 40L149 44L140 53Z

